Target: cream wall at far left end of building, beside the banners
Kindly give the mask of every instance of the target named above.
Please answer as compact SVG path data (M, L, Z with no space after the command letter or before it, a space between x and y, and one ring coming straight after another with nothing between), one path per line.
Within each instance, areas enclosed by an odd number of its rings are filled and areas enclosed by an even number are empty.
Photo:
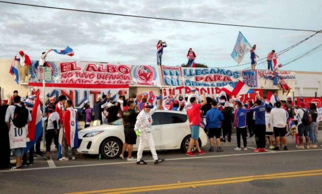
M14 76L9 73L12 60L0 59L0 87L1 99L6 99L6 95L12 95L14 90L18 90L18 94L23 97L27 95L28 84L21 85L14 81Z

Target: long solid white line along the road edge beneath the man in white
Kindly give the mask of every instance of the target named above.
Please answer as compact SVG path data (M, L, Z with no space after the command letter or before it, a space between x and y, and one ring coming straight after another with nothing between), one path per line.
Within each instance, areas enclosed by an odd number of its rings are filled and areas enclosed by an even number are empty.
M171 158L166 159L166 161L172 160L190 160L190 159L202 159L202 158L217 158L217 157L226 157L226 156L243 156L243 155L253 155L253 154L270 154L270 153L286 153L286 152L310 152L310 151L322 151L322 149L312 149L312 150L289 150L281 152L253 152L253 153L241 153L241 154L229 154L229 155L216 155L216 156L195 156L195 157L184 157L184 158ZM146 162L153 162L153 160L146 160ZM54 169L58 168L74 168L74 167L86 167L86 166L103 166L103 165L114 165L114 164L129 164L134 162L112 162L112 163L99 163L99 164L83 164L83 165L73 165L73 166L56 166ZM1 172L19 172L19 171L33 171L33 170L45 170L53 169L51 167L41 167L41 168L27 168L21 170L2 170Z

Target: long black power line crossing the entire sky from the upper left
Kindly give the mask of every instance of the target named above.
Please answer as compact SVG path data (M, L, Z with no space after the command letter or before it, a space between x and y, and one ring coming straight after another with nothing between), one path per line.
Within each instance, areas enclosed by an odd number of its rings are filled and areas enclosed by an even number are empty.
M192 21L192 20L179 20L179 19L159 18L159 17L147 17L147 16L140 16L140 15L114 14L114 13L107 13L107 12L95 12L95 11L87 11L87 10L80 10L80 9L68 9L68 8L61 8L61 7L50 7L50 6L43 6L43 5L14 3L14 2L7 2L7 1L0 1L0 3L14 4L14 5L25 5L25 6L32 6L32 7L42 7L42 8L50 8L50 9L58 9L58 10L66 10L66 11L86 12L86 13L93 13L93 14L106 14L106 15L118 15L118 16L126 16L126 17L145 18L145 19L167 20L167 21L176 21L176 22L203 23L203 24L239 26L239 27L249 27L249 28L264 28L264 29L273 29L273 30L292 30L292 31L317 32L317 33L320 32L317 30L273 28L273 27L263 27L263 26L237 25L237 24L227 24L227 23L213 23L213 22L200 22L200 21Z

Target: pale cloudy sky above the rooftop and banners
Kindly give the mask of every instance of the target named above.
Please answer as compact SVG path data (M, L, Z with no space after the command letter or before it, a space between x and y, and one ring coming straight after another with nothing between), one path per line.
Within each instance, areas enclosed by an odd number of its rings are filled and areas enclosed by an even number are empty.
M213 23L321 30L322 1L173 1L173 0L77 0L11 1L35 5L132 14ZM201 3L199 3L201 2ZM196 62L209 67L237 65L230 54L241 31L257 53L265 57L281 51L314 32L270 30L222 25L162 21L124 16L81 13L0 3L0 58L12 59L23 50L38 60L46 49L69 45L73 57L50 53L47 60L108 61L122 64L156 64L156 43L166 41L163 65L186 63L190 47ZM322 43L322 33L279 56L283 63ZM282 69L322 71L322 51L290 63ZM241 64L249 62L245 55ZM248 65L234 69L244 69ZM260 65L260 69L264 66Z

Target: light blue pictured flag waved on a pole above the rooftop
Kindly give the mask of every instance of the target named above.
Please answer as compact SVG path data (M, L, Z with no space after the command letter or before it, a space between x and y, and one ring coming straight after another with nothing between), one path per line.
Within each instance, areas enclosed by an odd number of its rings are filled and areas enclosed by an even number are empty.
M239 64L244 59L245 54L250 51L251 48L251 44L246 40L244 35L242 35L242 32L239 32L231 56Z

